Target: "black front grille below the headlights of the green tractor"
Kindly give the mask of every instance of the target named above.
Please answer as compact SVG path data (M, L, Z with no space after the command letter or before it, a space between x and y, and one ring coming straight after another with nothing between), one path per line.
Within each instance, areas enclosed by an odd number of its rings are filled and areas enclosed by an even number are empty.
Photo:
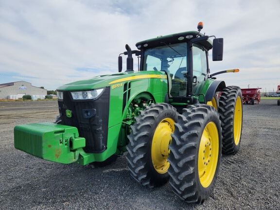
M74 101L70 91L63 94L63 101L58 101L62 124L78 128L79 136L86 139L86 152L103 152L107 147L110 88L96 100ZM71 111L70 118L66 110Z

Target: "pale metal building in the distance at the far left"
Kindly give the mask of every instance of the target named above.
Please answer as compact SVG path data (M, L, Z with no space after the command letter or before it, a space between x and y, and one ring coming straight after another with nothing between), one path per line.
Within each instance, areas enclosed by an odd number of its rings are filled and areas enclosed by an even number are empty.
M44 99L47 90L24 81L0 84L0 99L19 99L24 95L31 95L32 99Z

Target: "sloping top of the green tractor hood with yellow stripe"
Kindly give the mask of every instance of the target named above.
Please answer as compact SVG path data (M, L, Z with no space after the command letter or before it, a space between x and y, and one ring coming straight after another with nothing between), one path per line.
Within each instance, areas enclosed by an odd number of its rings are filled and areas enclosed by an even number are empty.
M118 82L138 79L138 76L142 77L144 75L155 75L156 77L154 78L161 78L161 75L165 74L160 71L129 71L116 74L101 75L88 80L81 80L60 86L57 88L57 90L90 90L96 88L104 88Z

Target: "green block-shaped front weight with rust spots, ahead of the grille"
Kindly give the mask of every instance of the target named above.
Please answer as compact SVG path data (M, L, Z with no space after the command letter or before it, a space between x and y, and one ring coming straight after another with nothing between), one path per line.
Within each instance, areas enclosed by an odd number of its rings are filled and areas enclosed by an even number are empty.
M35 157L68 164L77 161L80 152L74 149L85 147L86 140L79 137L76 127L32 123L14 128L14 144L16 149Z

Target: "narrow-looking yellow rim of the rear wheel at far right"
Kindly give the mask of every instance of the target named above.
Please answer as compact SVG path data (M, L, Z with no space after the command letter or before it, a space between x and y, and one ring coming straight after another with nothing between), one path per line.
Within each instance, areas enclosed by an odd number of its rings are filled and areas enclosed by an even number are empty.
M234 118L233 118L233 135L234 143L238 145L241 137L241 127L242 127L242 103L240 96L237 97L235 108L234 108Z

